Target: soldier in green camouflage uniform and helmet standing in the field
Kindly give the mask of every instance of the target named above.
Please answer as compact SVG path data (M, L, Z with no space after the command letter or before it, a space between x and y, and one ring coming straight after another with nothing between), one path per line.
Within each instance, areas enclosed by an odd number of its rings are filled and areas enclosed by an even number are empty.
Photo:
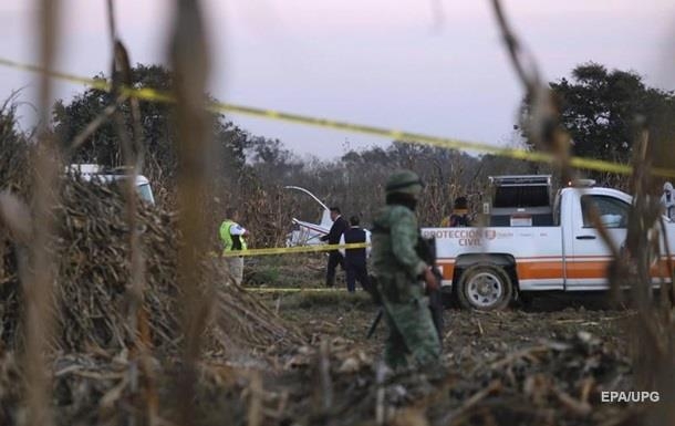
M422 187L415 173L394 173L386 184L386 206L373 224L373 267L390 329L384 357L392 368L428 364L440 355L422 284L437 289L438 281L415 251L419 228L414 210Z

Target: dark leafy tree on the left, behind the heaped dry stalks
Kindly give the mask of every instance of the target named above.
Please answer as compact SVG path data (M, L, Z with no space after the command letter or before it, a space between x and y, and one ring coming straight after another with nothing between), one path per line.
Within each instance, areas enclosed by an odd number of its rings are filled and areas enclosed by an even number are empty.
M104 79L98 75L98 79ZM132 70L133 85L136 89L153 87L168 92L173 76L160 65L138 64ZM96 89L89 89L71 102L58 101L53 110L53 126L64 150L70 153L72 163L96 163L115 167L122 165L118 131L112 120L104 123L84 144L70 152L71 144L89 123L98 117L105 107L114 102L113 96ZM120 106L126 131L131 135L131 112L128 103ZM145 152L144 170L149 169L154 178L173 184L178 163L175 152L176 128L174 105L159 102L141 102L141 126ZM216 141L214 153L204 153L219 175L239 179L246 166L245 150L251 144L249 135L228 122L224 115L212 116L212 137Z

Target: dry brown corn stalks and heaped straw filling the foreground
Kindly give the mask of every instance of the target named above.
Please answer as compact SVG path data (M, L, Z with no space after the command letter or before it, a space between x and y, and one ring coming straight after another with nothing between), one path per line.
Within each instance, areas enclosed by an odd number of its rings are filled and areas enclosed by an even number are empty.
M633 285L636 313L448 311L438 367L387 373L377 362L380 340L363 341L368 302L252 294L230 282L217 258L205 256L202 190L210 168L199 153L210 152L202 110L206 40L198 2L176 3L169 50L179 101L178 214L139 205L131 186L117 191L63 179L52 135L41 129L39 144L29 145L0 122L0 424L627 425L672 418L668 405L609 405L599 396L636 387L673 396L672 289L663 287L657 309L645 290L643 254L657 215L645 196L651 164L644 154L635 157L640 173L631 183L644 202L632 214L627 251L613 248L613 281ZM126 102L137 111L137 103L121 90L128 83L128 54L112 4L114 105L72 148L112 120L125 164L135 170L143 141L138 115L125 123L116 111ZM523 65L497 0L494 7L532 101L531 137L557 156L557 173L567 180L573 176L569 136L533 61ZM45 69L58 8L43 1ZM49 91L44 77L43 101ZM48 110L43 102L43 117ZM644 134L641 146L647 141ZM261 283L274 281L270 277ZM620 331L627 326L617 322L632 325L627 337Z

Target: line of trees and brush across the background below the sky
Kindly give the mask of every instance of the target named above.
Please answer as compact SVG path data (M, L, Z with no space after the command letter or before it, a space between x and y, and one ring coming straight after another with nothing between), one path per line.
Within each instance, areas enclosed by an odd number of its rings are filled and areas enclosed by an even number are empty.
M172 73L159 65L138 64L132 75L135 87L168 91L173 84ZM646 128L655 165L672 164L673 92L646 86L634 72L608 71L595 63L577 66L571 79L551 82L550 89L558 101L559 125L572 136L573 155L626 163L636 135ZM110 93L87 89L72 100L55 103L51 124L63 152L69 153L64 160L108 167L122 165L118 133L113 123L104 123L81 146L70 149L82 129L113 102ZM527 120L527 98L522 111ZM131 115L129 111L123 113ZM167 208L175 202L178 167L173 115L172 104L141 103L142 173L150 179L158 204ZM346 215L361 216L367 225L383 202L386 177L396 168L409 168L426 183L418 205L420 224L433 226L449 215L457 196L467 196L471 208L478 211L490 175L551 173L548 165L491 155L471 156L409 141L349 150L335 159L300 157L281 141L252 135L222 114L211 114L211 128L214 152L204 156L209 159L214 176L209 206L205 209L212 217L214 237L226 211L236 208L242 224L252 230L256 247L282 245L291 217L307 220L320 217L315 204L283 189L287 185L303 186L326 204L340 206ZM523 131L513 143L531 148L527 125L520 128ZM18 131L15 106L9 101L0 111L0 137L3 150L15 146L17 141L29 145L31 139L30 133ZM600 184L625 186L625 178L593 175Z

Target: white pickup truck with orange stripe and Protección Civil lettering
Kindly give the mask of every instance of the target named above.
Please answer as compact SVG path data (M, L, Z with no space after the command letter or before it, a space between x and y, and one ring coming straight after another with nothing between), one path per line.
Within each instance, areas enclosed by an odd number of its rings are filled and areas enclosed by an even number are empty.
M436 239L444 292L453 291L463 308L498 310L527 292L606 290L612 258L586 210L598 208L620 247L631 202L630 195L615 189L563 188L552 204L551 226L423 228L422 233ZM675 224L664 221L667 241L675 241ZM654 284L669 281L666 252L673 252L673 243L665 250L663 232L660 240Z

